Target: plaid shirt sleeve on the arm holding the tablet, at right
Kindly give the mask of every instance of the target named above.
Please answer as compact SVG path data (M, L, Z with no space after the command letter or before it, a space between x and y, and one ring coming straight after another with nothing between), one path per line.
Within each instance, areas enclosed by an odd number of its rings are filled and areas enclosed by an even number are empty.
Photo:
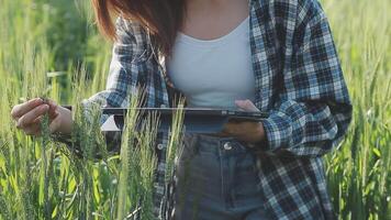
M264 152L322 156L347 132L353 106L326 16L305 25L302 42L283 70L283 88L262 121Z

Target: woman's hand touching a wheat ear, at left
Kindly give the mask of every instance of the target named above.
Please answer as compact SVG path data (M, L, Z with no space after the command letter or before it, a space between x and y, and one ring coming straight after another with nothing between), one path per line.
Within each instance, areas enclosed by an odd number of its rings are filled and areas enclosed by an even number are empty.
M45 113L49 117L51 133L71 132L70 110L58 106L55 101L44 101L41 98L29 100L12 108L11 116L16 122L16 128L27 135L41 135L41 120Z

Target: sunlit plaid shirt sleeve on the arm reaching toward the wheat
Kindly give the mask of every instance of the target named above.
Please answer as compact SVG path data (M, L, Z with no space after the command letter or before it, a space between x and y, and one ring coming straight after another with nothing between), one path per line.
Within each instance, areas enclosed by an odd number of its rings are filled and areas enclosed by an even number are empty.
M138 77L142 70L141 63L146 58L145 34L141 25L131 23L131 21L120 16L115 21L115 30L118 40L113 43L105 89L81 100L85 118L91 123L93 121L93 108L126 108L130 105L131 95L136 89L136 85L144 84L142 82L143 77ZM108 118L108 114L101 114L100 125ZM103 135L114 147L121 141L121 135L113 132L104 132ZM52 136L54 141L71 145L70 134L53 134ZM79 142L77 140L74 140L74 142L76 142L74 146L80 148ZM109 143L108 148L112 148Z

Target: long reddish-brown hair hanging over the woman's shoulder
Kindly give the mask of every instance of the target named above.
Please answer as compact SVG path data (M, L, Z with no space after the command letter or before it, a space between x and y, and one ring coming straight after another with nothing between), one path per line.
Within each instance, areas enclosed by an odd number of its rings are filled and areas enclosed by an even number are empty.
M99 31L115 41L112 15L139 22L157 40L164 54L171 51L183 20L186 0L91 0Z

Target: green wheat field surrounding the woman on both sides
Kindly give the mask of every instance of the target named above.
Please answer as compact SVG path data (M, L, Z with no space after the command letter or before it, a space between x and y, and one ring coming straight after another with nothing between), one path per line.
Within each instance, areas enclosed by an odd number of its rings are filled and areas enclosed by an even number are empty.
M354 103L347 138L325 157L333 205L340 219L391 219L391 1L321 2ZM88 0L0 0L0 219L123 219L136 196L149 198L148 152L136 152L146 156L138 165L124 151L80 160L47 135L24 135L10 118L32 97L66 105L102 90L110 58ZM126 158L139 175L121 169ZM133 180L125 191L122 175ZM137 179L143 190L132 188Z

